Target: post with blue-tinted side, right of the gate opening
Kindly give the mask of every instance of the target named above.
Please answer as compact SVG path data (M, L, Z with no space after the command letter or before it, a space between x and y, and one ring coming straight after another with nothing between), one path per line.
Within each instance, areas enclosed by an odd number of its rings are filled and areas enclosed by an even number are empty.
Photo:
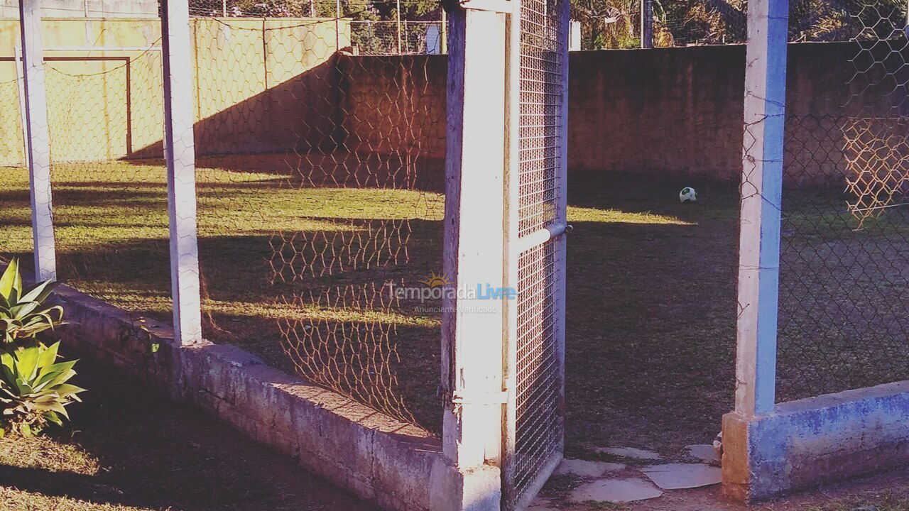
M735 411L771 411L776 386L788 0L748 4Z

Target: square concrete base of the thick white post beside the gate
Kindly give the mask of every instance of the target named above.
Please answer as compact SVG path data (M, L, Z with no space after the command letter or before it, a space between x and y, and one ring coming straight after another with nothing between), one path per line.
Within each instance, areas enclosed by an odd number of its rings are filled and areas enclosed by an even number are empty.
M443 458L433 465L430 493L436 498L432 511L499 511L502 501L501 470L497 466L458 469Z

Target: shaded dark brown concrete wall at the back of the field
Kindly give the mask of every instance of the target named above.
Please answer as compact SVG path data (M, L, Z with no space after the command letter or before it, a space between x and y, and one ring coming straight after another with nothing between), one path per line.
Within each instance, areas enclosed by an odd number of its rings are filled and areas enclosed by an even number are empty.
M812 181L842 175L843 105L856 90L847 86L856 53L849 43L789 45L787 180ZM422 155L445 156L445 55L426 59L430 79L414 87L407 115L429 115L416 123L373 105L401 82L413 57L359 57L346 65L355 101L347 131L369 137L418 125ZM373 59L370 61L369 59ZM701 46L652 50L574 52L570 58L569 168L595 175L634 173L736 180L741 171L744 46ZM853 87L855 89L855 87ZM877 101L877 100L875 100ZM395 146L400 136L385 138ZM437 142L438 141L438 142ZM371 145L385 150L385 145Z

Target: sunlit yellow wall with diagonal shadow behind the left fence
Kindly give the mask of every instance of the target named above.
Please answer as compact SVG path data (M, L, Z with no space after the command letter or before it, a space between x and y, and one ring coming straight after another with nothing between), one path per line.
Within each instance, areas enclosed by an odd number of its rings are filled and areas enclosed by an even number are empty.
M194 18L191 25L199 154L306 149L335 129L334 20ZM341 47L350 45L349 31L342 23ZM142 49L160 47L158 21L46 19L42 35L52 160L160 156L161 53ZM0 57L12 57L15 45L17 20L0 20ZM129 49L59 50L74 46ZM15 66L0 61L0 165L23 158L17 88Z

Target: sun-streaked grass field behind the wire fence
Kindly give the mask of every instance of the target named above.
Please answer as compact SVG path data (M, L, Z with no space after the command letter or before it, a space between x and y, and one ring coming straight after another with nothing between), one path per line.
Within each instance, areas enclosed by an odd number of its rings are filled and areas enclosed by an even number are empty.
M282 326L378 326L399 360L382 361L396 380L383 380L394 396L375 399L438 431L438 316L409 306L282 299L387 279L416 283L441 271L437 188L299 187L236 166L199 162L205 335L295 371ZM5 170L2 252L27 257L25 173ZM682 185L698 188L697 204L678 203ZM54 191L61 276L136 316L169 320L159 162L60 168ZM673 456L686 444L709 443L734 386L734 185L579 176L569 189L568 219L575 227L568 244L568 454L602 457L595 447L627 445ZM326 267L330 275L322 275ZM830 287L815 280L812 286ZM784 384L787 378L803 376L790 370Z

